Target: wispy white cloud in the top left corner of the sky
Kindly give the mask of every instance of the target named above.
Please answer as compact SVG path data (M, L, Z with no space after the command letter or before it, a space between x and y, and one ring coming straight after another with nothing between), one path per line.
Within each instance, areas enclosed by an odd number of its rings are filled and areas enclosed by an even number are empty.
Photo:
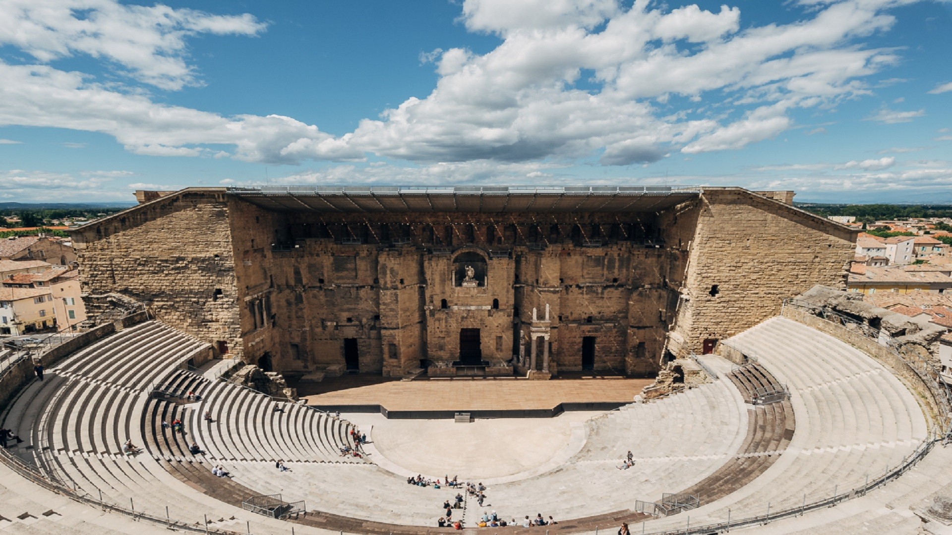
M185 62L186 38L199 33L256 35L265 25L249 14L223 16L116 0L4 0L0 44L38 61L77 53L108 60L162 89L198 82Z

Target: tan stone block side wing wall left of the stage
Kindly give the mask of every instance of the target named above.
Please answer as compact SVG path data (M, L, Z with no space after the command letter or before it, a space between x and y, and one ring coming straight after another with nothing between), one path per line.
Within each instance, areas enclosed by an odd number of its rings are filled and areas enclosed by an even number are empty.
M122 294L241 356L224 188L184 189L71 233L85 294Z

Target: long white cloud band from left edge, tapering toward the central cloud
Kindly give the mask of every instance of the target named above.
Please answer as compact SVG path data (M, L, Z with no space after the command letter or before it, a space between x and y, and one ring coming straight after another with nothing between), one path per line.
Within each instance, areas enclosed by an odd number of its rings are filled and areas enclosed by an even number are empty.
M230 145L240 160L293 163L296 154L282 151L295 143L328 141L309 148L311 158L357 159L362 153L335 145L317 127L282 117L215 113L151 102L89 84L77 72L46 66L11 66L0 62L0 125L23 125L108 133L126 149L141 154L198 156L208 144Z

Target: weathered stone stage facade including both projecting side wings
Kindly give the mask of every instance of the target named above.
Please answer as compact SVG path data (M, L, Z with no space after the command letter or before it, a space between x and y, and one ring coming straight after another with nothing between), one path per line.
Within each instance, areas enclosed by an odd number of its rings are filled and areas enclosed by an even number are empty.
M701 352L784 297L842 286L854 239L737 188L505 212L476 195L402 211L290 194L276 206L222 188L143 198L154 200L74 233L84 290L127 295L286 373L653 375L665 344Z

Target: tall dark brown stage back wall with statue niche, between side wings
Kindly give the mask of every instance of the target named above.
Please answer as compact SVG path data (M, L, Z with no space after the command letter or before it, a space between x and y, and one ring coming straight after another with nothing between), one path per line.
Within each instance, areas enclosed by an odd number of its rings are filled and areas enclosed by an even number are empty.
M553 368L581 369L583 338L594 336L596 369L651 374L676 302L669 281L686 259L686 242L673 253L643 243L658 238L646 214L533 223L518 214L328 218L243 205L230 208L238 291L273 315L253 327L242 307L247 360L267 351L285 372L342 367L354 339L360 371L398 376L424 360L458 360L463 328L480 329L484 360L505 363L527 351L532 308L547 305ZM581 247L596 234L604 245ZM461 255L483 266L476 287L461 284Z

